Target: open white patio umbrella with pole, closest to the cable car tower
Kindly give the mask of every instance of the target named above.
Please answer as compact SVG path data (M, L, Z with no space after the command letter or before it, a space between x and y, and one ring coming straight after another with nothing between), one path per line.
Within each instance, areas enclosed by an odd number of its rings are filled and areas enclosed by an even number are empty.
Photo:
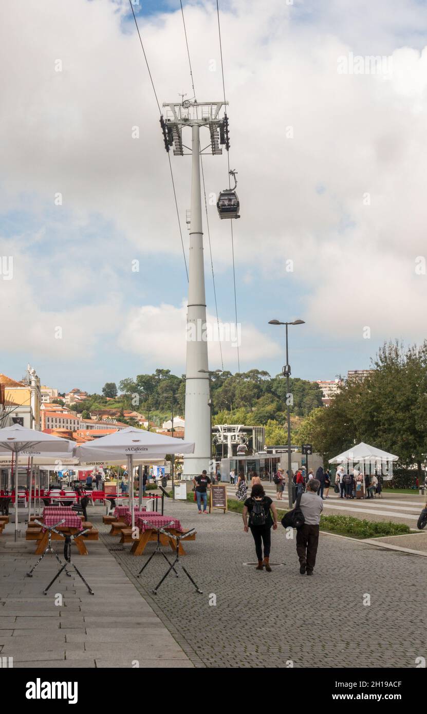
M193 452L194 442L129 426L127 429L101 436L89 444L78 446L74 449L74 456L81 458L81 461L99 460L99 458L104 458L106 461L114 458L127 459L128 474L131 479L132 528L134 528L134 458L164 458L167 453Z

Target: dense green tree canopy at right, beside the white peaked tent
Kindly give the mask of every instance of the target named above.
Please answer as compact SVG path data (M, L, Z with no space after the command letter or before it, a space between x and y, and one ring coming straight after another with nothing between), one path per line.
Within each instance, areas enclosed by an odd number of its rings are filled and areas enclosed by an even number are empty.
M404 466L426 459L427 341L421 347L384 343L363 382L344 381L325 409L316 409L298 429L325 458L364 441L399 457Z

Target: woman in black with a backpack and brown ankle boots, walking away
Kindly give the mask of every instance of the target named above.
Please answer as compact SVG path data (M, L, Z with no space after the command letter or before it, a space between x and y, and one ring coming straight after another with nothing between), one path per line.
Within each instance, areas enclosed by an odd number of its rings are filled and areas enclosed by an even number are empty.
M271 518L271 513L273 513L273 518ZM242 518L243 531L248 533L249 528L251 528L253 540L255 540L256 557L258 558L256 570L262 570L265 566L267 573L271 573L271 526L273 526L273 531L276 531L277 511L271 498L268 498L264 493L261 483L256 483L252 487L251 496L246 499L243 507Z

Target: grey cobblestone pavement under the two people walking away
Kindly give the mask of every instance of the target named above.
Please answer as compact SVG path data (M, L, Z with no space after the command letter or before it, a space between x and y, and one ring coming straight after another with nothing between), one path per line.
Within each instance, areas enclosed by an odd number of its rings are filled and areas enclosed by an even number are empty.
M427 658L425 558L322 534L308 578L299 573L295 541L279 526L271 562L286 564L260 572L243 564L256 557L241 516L199 516L192 504L171 501L165 510L197 528L182 562L203 595L184 573L169 575L153 595L164 558L155 555L136 575L154 543L136 558L102 525L101 538L196 666L413 668L417 657ZM371 605L363 605L368 595Z

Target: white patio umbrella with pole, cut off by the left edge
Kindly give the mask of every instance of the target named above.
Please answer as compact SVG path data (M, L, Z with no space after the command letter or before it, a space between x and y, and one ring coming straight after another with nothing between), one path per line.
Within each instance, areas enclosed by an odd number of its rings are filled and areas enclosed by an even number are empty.
M40 448L45 453L68 453L72 456L74 442L63 439L60 436L51 436L44 431L27 429L20 424L13 424L0 429L0 450L13 451L16 458L15 468L15 540L18 535L18 466L19 454L21 451L29 451L33 448ZM29 454L26 454L28 459Z

